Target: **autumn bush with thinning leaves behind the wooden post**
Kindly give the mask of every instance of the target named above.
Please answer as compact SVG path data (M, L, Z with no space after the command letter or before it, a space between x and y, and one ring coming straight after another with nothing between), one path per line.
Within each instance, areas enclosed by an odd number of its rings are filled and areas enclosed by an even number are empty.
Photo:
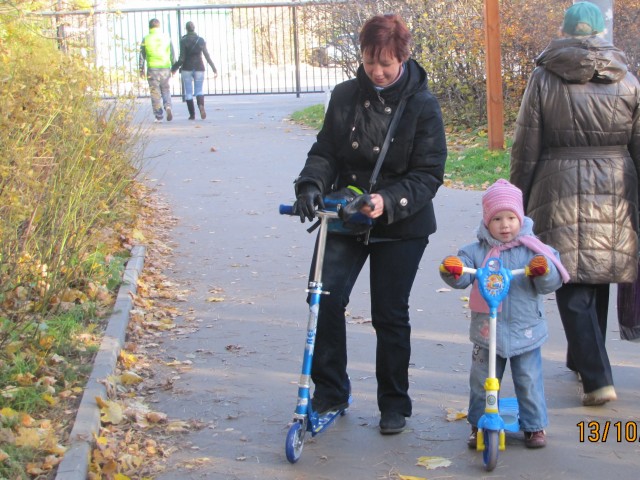
M427 70L429 88L436 94L445 120L455 127L486 124L485 0L351 0L315 7L323 15L309 15L310 28L323 38L359 32L363 23L379 12L400 14L413 33L413 57ZM571 0L544 3L500 0L502 90L505 123L511 123L520 106L535 58L558 36L563 14ZM315 18L332 21L316 25ZM640 0L615 0L614 44L640 73ZM354 73L347 68L345 72Z

